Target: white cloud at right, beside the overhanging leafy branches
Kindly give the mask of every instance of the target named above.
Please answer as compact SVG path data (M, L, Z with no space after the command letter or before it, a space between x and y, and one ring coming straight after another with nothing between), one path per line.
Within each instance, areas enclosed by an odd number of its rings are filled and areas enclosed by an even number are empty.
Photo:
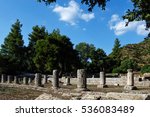
M144 21L133 21L126 25L127 20L121 20L119 15L114 14L109 21L110 30L114 30L115 35L123 35L129 31L135 31L138 35L146 36L150 30L145 30Z

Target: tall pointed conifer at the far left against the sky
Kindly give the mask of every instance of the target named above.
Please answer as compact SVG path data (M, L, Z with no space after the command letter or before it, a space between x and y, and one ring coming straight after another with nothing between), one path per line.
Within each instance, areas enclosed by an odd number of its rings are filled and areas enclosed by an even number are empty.
M12 25L11 31L1 45L1 56L7 60L8 73L21 72L24 66L24 41L21 34L22 24L17 21Z

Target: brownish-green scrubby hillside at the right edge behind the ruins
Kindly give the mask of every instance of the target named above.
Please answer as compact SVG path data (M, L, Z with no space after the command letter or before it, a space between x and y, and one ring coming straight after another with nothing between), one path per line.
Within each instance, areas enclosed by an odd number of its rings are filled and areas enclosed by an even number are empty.
M150 38L138 44L128 44L121 48L121 60L132 59L140 67L150 64Z

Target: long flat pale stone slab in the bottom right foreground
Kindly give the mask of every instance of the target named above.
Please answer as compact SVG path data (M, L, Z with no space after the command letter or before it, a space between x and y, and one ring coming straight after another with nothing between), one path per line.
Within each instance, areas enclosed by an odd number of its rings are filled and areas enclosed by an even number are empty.
M117 100L150 100L149 94L131 94L131 93L114 93L106 94L107 98L114 98Z

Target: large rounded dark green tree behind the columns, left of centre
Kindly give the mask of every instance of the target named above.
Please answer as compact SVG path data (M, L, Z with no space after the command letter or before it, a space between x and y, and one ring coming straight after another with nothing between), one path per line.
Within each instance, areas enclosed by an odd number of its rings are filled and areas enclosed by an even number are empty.
M36 42L34 63L39 72L50 73L53 69L59 69L61 75L76 69L78 62L73 44L59 30L54 30L47 38Z

